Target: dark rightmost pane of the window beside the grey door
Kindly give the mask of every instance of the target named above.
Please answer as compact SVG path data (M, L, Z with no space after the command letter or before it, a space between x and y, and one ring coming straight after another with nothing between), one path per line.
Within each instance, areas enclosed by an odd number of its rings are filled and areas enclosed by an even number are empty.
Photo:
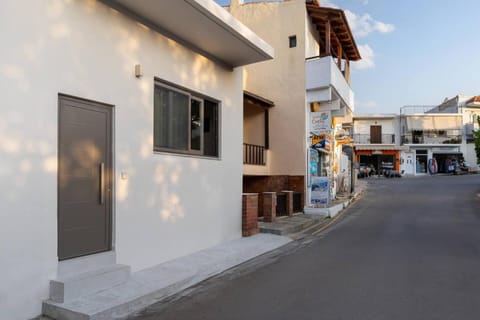
M203 123L203 154L218 157L218 104L204 101Z

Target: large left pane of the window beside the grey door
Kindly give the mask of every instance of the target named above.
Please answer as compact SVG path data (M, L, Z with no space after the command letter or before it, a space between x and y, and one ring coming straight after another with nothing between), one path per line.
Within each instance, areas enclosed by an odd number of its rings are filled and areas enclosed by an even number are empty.
M188 95L155 88L154 144L156 147L188 150Z

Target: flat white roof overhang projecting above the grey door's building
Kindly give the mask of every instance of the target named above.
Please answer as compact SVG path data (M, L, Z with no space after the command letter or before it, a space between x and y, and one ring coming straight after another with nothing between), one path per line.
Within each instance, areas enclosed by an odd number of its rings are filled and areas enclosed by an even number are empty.
M273 48L213 0L101 0L203 56L235 68L272 59Z

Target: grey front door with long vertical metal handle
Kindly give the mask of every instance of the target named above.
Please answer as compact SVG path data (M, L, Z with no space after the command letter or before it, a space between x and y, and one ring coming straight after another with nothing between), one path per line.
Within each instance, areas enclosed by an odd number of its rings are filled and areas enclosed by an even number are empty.
M58 257L111 250L113 107L59 96Z

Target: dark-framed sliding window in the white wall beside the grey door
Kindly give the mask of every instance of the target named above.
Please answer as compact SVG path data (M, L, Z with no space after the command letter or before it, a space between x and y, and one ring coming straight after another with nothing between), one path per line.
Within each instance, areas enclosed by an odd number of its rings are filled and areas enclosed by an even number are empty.
M156 83L154 151L218 158L218 112L213 100Z

